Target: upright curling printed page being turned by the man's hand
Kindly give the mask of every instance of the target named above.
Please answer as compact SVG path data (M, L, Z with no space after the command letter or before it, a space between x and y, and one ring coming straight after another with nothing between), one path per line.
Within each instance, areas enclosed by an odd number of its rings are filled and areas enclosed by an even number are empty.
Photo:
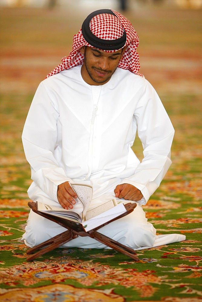
M90 185L83 184L70 184L73 190L77 193L78 198L77 202L80 202L83 205L83 217L86 214L86 211L89 207L93 196L93 188Z

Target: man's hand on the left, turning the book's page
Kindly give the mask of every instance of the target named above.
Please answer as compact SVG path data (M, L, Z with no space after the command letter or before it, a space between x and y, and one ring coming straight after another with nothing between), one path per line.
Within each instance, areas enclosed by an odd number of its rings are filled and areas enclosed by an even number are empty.
M73 209L73 204L76 203L74 198L77 197L77 194L73 191L69 182L64 182L57 186L57 199L64 209Z

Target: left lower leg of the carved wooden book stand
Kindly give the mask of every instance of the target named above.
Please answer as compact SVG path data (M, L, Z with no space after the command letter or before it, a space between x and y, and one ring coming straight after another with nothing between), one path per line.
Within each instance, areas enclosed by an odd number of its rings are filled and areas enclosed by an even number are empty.
M34 254L27 257L27 261L31 261L38 256L44 255L47 252L52 251L53 249L56 249L59 246L62 246L63 244L67 243L68 241L77 238L78 235L72 233L72 231L65 231L57 236L54 236L51 239L48 239L44 241L43 243L38 244L37 246L34 246L31 249L28 249L27 254L31 254L38 249L40 249L38 252L35 252ZM46 246L44 249L42 249L44 246Z

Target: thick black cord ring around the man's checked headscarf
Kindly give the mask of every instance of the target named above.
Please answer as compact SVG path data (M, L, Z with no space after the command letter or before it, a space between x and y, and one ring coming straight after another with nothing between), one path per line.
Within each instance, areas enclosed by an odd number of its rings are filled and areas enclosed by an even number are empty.
M124 34L122 37L116 39L116 40L104 40L96 37L92 31L90 30L90 20L99 14L111 14L114 15L114 12L110 9L99 9L97 11L93 11L88 17L83 21L81 31L83 34L84 39L93 47L102 49L102 50L116 50L121 49L124 47L126 42L126 32L124 31Z

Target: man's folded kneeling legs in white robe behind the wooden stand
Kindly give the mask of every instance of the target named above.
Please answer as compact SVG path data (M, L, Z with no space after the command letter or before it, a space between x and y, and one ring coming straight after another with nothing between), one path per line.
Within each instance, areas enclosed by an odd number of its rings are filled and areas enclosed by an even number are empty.
M65 230L59 224L30 211L22 239L27 246L33 247ZM109 223L98 231L132 249L153 246L156 239L156 230L151 223L147 222L139 204L132 213ZM107 248L106 245L93 238L80 236L67 242L63 247Z

